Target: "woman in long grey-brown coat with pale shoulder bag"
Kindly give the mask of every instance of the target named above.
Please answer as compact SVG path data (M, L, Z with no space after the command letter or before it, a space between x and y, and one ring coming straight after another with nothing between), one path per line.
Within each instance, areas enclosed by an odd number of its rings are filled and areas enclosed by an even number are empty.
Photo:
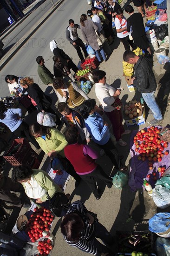
M98 39L96 35L97 33L100 36L100 33L98 32L98 26L92 20L87 20L86 14L81 15L80 23L81 32L83 34L86 45L90 45L93 48L93 50L96 51L96 57L98 58L99 62L101 62L99 52L102 55L103 60L107 61L106 54L102 47L102 43L101 46L98 45Z

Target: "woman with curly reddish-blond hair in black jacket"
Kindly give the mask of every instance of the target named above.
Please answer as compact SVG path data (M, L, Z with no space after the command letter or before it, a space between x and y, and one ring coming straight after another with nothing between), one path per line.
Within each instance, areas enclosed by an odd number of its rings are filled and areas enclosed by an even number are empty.
M52 98L47 96L39 87L34 83L33 78L25 77L20 80L20 85L27 90L30 98L35 102L39 111L49 112L56 116L56 125L61 124L60 118L57 113L51 108Z

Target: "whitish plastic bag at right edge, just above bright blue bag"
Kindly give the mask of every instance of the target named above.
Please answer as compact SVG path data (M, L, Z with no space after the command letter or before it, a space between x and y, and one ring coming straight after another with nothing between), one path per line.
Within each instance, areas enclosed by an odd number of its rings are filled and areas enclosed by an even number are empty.
M170 206L170 189L157 185L151 194L157 207L165 209Z

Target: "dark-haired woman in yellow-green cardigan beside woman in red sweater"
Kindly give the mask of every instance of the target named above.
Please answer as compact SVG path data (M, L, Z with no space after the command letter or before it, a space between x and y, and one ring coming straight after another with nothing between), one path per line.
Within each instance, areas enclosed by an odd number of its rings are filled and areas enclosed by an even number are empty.
M66 159L64 154L64 148L67 145L65 136L55 128L49 128L46 126L34 123L29 127L30 134L33 135L36 141L39 143L40 148L51 158L59 157L61 162L67 165L65 171L72 175L76 180L75 186L78 186L80 182L79 175L75 172L72 164ZM64 166L65 167L65 166Z

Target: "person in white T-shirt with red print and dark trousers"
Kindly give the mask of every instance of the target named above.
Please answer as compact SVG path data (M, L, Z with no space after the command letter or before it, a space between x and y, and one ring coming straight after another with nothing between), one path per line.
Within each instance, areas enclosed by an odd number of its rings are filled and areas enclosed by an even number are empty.
M137 47L133 43L133 40L129 39L129 33L126 30L126 25L127 20L124 17L124 11L122 9L118 9L118 13L115 18L117 36L123 43L125 50L130 50L130 46L132 47L132 50L135 50Z

